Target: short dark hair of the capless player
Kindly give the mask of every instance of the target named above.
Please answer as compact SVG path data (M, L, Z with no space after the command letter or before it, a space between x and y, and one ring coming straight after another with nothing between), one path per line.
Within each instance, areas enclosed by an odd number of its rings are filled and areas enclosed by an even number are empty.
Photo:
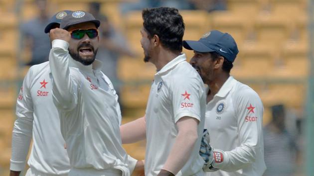
M146 8L142 11L143 26L152 38L159 37L163 47L182 51L184 22L178 9L170 7Z

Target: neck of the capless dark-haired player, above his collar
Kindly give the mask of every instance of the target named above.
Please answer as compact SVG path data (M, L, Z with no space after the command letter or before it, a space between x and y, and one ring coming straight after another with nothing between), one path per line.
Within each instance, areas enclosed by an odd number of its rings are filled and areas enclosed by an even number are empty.
M157 55L156 62L154 65L156 66L157 70L161 70L166 64L172 61L174 58L178 57L181 53L180 52L173 52L169 50L160 50Z

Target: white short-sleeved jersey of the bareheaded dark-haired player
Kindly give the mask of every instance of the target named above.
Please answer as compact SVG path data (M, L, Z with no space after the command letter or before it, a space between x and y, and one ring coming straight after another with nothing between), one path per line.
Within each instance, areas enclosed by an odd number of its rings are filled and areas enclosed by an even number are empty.
M184 116L199 121L198 139L190 158L176 176L204 175L204 161L199 155L206 104L202 88L200 76L185 61L184 54L155 74L146 108L146 176L157 176L162 169L178 134L175 123Z

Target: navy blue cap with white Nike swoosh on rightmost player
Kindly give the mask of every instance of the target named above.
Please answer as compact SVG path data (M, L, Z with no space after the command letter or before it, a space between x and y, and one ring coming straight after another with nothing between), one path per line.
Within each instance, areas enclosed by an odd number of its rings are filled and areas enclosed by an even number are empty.
M198 41L184 40L183 47L201 53L215 51L230 62L233 62L239 53L233 37L218 30L212 30L204 34Z

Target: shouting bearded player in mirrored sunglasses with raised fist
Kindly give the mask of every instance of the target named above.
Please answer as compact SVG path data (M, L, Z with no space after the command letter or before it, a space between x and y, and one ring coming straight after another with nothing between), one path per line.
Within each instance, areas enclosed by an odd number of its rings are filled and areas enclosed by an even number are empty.
M62 29L50 31L52 97L67 144L69 176L130 175L117 95L95 60L99 25L92 14L74 11L63 18Z

